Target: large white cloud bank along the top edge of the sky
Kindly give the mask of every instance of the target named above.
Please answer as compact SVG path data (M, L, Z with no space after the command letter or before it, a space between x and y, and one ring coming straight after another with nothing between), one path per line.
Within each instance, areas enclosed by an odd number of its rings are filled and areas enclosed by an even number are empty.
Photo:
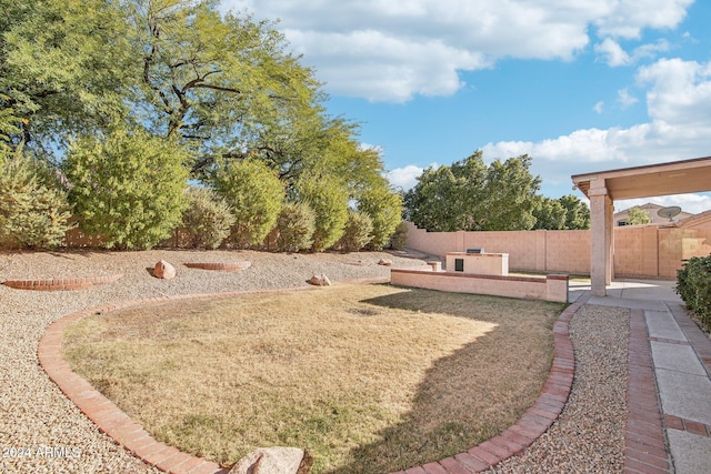
M451 95L463 71L500 58L572 60L607 38L610 63L633 60L611 38L681 22L693 0L223 0L256 19L280 19L303 61L331 93L404 102L417 94ZM615 49L617 46L617 49ZM651 48L651 49L650 49ZM649 54L653 47L640 50Z

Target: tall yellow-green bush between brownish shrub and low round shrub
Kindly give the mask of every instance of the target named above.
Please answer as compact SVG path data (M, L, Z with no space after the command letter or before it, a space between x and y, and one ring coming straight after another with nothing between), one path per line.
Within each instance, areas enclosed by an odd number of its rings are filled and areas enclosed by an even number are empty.
M260 244L277 223L284 198L273 170L258 160L231 161L214 173L212 183L236 218L230 242L240 248Z

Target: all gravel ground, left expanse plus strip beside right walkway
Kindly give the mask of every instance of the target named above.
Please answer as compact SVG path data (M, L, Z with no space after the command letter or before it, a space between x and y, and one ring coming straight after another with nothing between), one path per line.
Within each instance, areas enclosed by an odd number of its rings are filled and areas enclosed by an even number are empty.
M107 286L73 292L12 290L0 285L0 472L152 473L99 433L38 364L37 346L53 321L110 302L192 293L303 286L313 274L339 282L388 276L378 265L424 266L427 255L272 254L252 251L0 252L0 281L122 273ZM177 269L174 280L150 274L159 260ZM188 262L248 260L234 273L189 269ZM570 325L577 372L570 401L551 430L521 456L492 472L621 472L625 420L628 313L584 306Z

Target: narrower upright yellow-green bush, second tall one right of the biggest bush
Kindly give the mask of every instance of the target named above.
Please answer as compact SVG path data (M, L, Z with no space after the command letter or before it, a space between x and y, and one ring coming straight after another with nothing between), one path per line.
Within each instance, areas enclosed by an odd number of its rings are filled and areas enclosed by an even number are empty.
M312 250L322 252L329 249L346 229L349 198L346 185L330 174L304 174L297 181L296 192L316 213Z

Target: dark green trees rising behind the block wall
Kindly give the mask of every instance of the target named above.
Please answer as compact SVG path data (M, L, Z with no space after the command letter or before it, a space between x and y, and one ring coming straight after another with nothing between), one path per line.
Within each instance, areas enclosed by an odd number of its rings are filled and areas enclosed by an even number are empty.
M513 231L535 223L540 189L531 158L487 167L480 151L451 167L429 168L405 195L405 214L428 231Z

